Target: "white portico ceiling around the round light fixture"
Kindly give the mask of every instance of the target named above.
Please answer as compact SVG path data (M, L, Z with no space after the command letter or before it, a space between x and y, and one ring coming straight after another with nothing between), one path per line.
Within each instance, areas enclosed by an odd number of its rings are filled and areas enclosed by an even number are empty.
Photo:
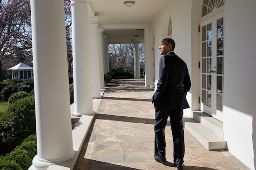
M143 43L145 25L168 0L134 0L135 5L127 7L126 0L89 0L89 16L99 17L108 44ZM138 35L138 36L136 36Z

